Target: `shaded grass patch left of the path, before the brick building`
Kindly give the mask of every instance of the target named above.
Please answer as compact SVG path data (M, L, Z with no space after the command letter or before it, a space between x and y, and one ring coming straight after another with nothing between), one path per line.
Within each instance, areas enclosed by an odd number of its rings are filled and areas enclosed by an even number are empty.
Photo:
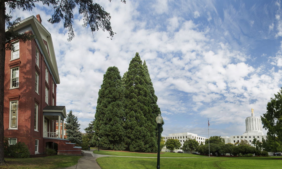
M2 169L56 169L65 168L77 164L82 156L52 155L37 158L5 158L7 166Z

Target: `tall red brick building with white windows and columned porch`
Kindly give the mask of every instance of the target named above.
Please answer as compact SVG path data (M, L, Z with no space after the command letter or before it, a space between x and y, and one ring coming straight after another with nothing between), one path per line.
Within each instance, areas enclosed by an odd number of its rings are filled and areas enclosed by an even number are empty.
M24 142L30 154L41 154L45 147L60 153L81 154L81 147L62 137L67 117L65 106L56 106L56 87L60 83L50 33L39 15L24 19L15 28L34 34L23 43L15 40L15 51L6 51L4 79L4 136L10 144Z

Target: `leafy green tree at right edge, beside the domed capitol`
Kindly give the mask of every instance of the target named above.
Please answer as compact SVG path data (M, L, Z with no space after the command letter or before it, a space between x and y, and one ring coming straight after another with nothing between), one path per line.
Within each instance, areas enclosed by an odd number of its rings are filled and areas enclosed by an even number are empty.
M282 151L282 87L270 98L267 103L266 113L261 116L263 128L267 129L268 151Z

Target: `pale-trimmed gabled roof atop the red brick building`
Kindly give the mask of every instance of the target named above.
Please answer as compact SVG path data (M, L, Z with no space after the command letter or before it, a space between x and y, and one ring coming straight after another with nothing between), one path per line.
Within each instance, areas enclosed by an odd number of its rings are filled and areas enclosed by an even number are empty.
M55 83L59 84L60 77L58 72L56 56L54 52L54 46L53 46L51 34L48 32L48 30L37 20L35 16L30 16L19 22L19 25L16 26L14 31L19 33L24 33L30 30L30 28L32 33L36 36L35 40L40 48L39 50L42 52L44 59L47 62L47 65L50 69L50 73L52 74ZM50 57L48 54L48 50L43 42L43 37L47 40Z

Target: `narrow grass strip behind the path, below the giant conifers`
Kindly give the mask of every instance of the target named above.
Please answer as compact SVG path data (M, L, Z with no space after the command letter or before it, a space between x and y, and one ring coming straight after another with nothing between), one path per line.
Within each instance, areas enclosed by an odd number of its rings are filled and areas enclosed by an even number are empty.
M103 154L103 155L117 155L117 156L131 156L131 157L157 157L157 153L149 154L149 153L130 153L130 152L115 152L115 151L103 151L94 150L95 154ZM170 153L170 152L162 152L160 157L206 157L203 155L197 154L186 154L186 153Z

